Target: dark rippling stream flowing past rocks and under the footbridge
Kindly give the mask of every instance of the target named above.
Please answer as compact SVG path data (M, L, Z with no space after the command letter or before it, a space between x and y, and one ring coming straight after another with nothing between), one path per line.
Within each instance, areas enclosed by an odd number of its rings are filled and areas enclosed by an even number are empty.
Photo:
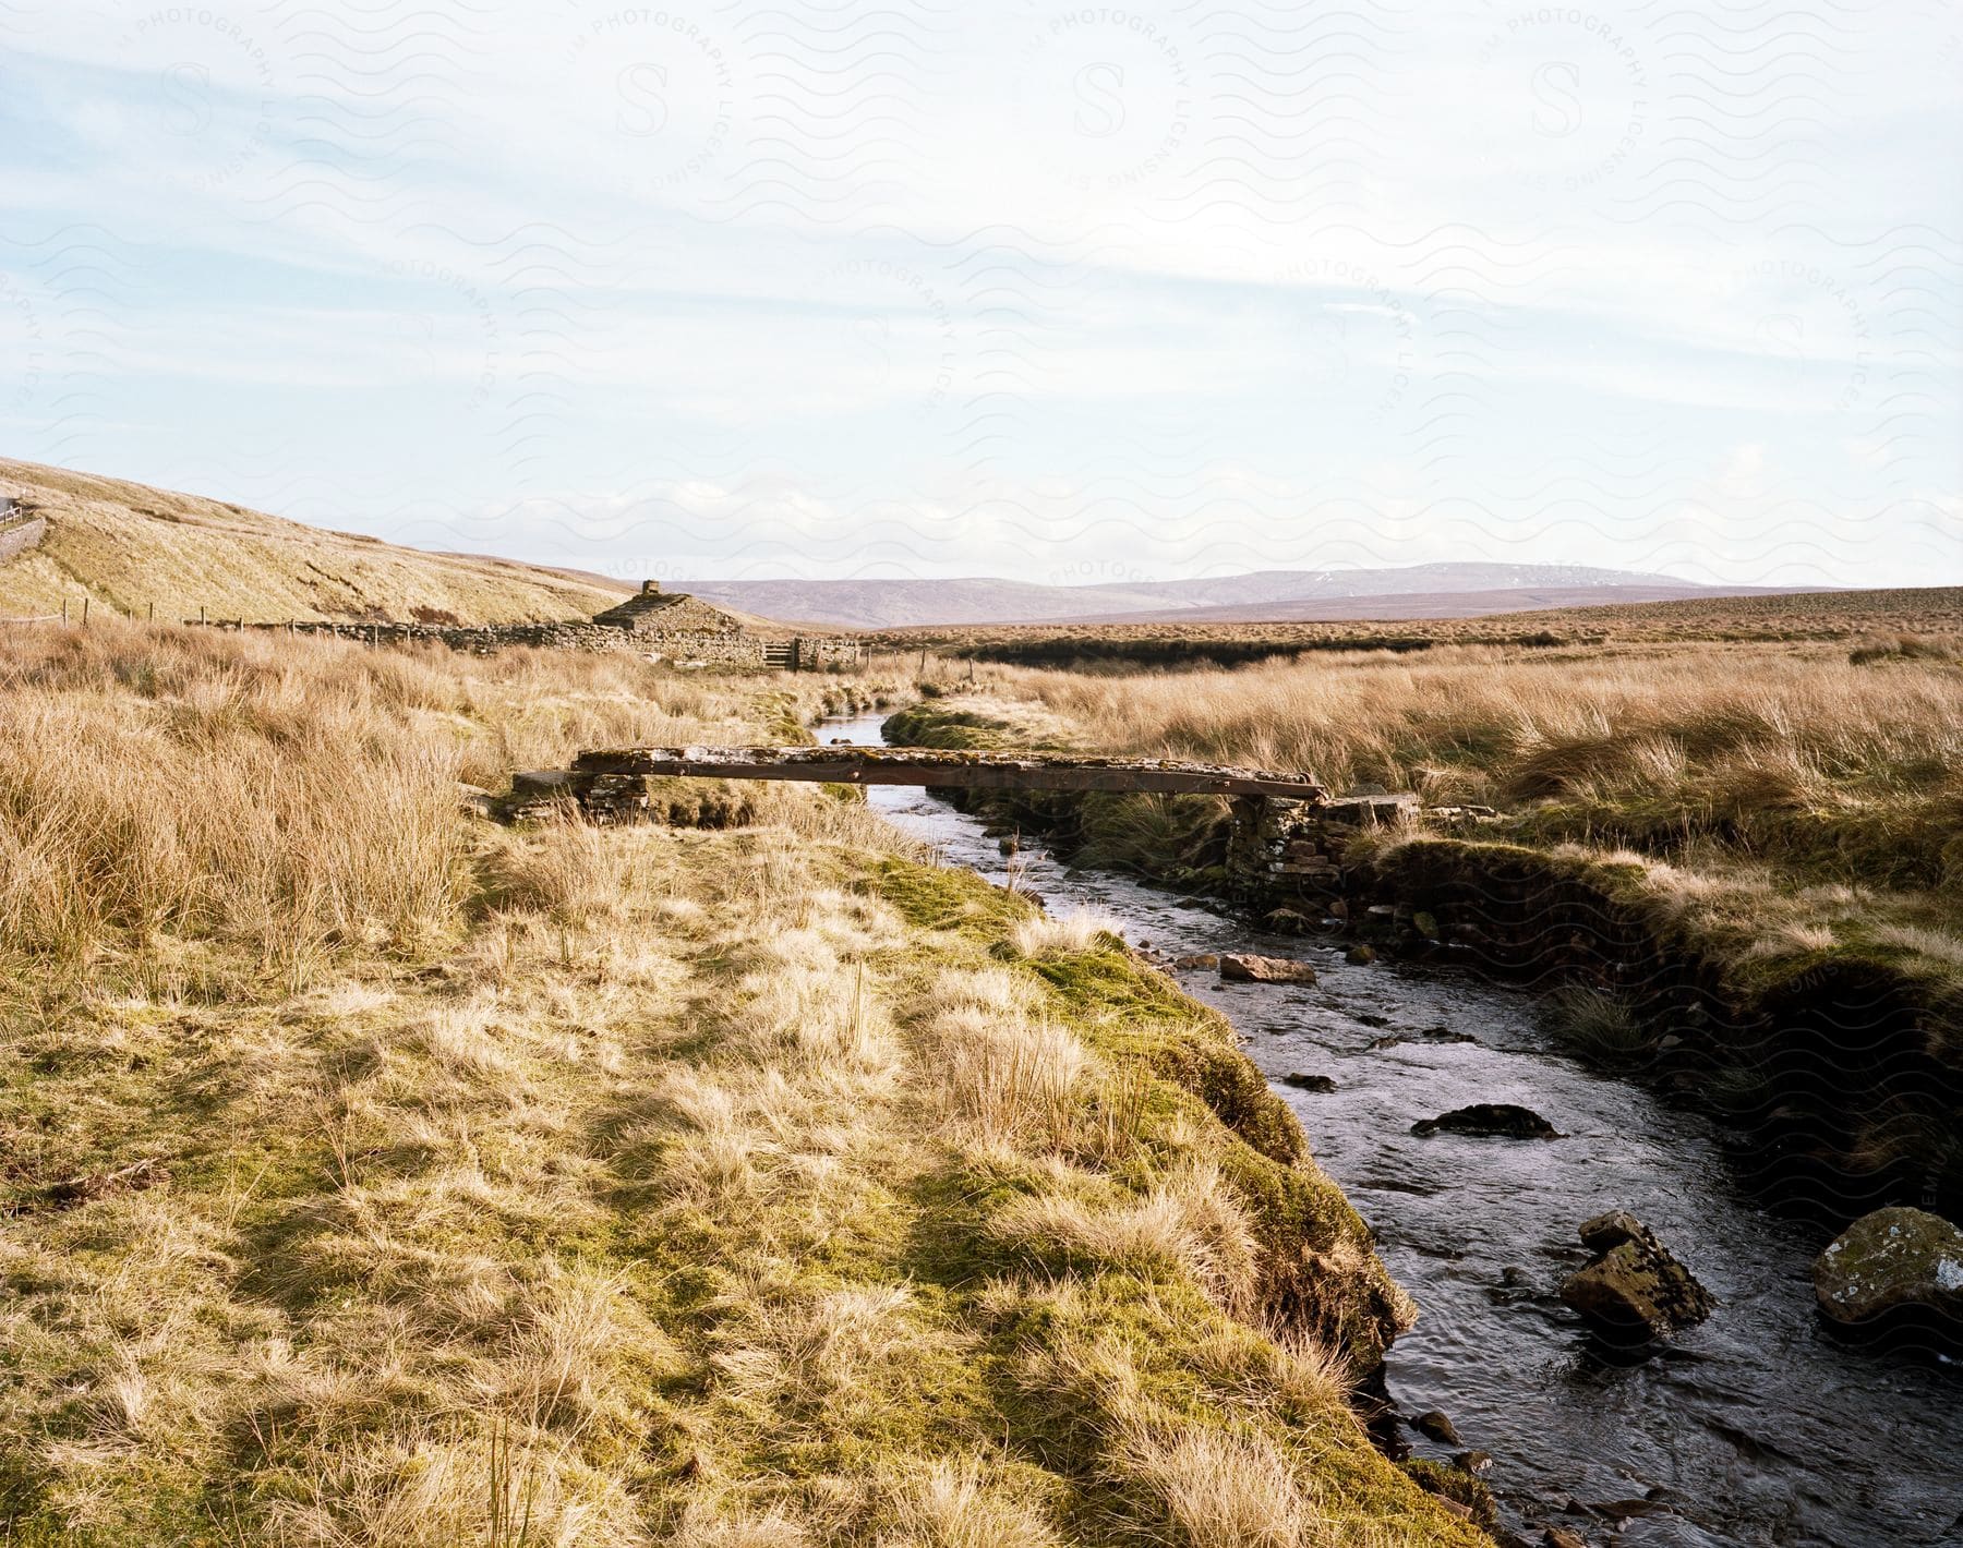
M817 736L881 746L879 722L836 718ZM866 797L940 863L1009 877L976 818L911 787ZM1753 1205L1716 1124L1561 1054L1523 991L1449 967L1349 965L1339 946L1266 936L1038 850L1013 865L1052 912L1101 910L1166 957L1315 965L1307 987L1176 977L1233 1020L1417 1299L1417 1326L1386 1358L1390 1397L1404 1415L1449 1415L1460 1446L1409 1432L1413 1454L1488 1452L1512 1530L1537 1542L1559 1524L1629 1548L1963 1544L1963 1371L1833 1342L1810 1281L1826 1238ZM1280 1085L1292 1073L1335 1091ZM1482 1101L1531 1107L1565 1138L1409 1132ZM1608 1209L1645 1220L1720 1301L1647 1358L1598 1344L1555 1295L1588 1260L1574 1228Z

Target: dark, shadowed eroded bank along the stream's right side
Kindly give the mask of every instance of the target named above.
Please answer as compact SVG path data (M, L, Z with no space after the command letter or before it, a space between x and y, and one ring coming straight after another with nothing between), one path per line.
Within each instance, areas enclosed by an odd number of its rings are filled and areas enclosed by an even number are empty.
M895 714L885 734L1003 746L999 722L934 702ZM1565 997L1578 1008L1572 1052L1722 1118L1757 1195L1810 1218L1822 1246L1884 1205L1963 1218L1963 1003L1955 981L1912 971L1910 954L1741 961L1641 865L1512 842L1490 818L1421 840L1296 818L1309 844L1260 838L1323 857L1268 875L1245 853L1258 848L1250 824L1213 797L974 791L954 802L1078 863L1233 903L1280 934L1586 991Z

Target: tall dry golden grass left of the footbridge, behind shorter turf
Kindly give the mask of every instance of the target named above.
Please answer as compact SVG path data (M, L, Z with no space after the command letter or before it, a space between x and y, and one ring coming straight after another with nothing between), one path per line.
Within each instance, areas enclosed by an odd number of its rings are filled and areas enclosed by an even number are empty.
M503 787L609 742L756 738L750 695L626 657L120 624L4 645L0 940L69 955L208 934L298 971L338 944L444 934L473 885L459 781ZM775 702L799 693L822 689Z

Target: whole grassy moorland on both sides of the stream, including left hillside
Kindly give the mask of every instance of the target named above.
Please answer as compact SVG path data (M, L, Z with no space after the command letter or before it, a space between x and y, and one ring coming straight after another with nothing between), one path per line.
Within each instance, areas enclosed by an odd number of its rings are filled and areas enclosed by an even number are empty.
M695 671L179 624L618 593L0 475L0 538L37 524L0 561L6 1542L1486 1540L1474 1471L1372 1442L1423 1309L1219 1012L856 791L487 820L585 748L879 708L1413 791L1358 908L1451 926L1504 879L1612 920L1669 993L1561 955L1582 1058L1828 1167L1841 1218L1963 1183L1959 591ZM1235 901L1221 800L995 816Z

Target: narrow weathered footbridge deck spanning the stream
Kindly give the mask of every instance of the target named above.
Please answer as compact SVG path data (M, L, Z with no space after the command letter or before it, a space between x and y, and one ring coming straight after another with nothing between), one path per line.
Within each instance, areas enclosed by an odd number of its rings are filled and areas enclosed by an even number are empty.
M1307 775L1162 757L983 753L927 748L605 748L583 751L557 785L573 797L609 777L795 779L983 791L1160 791L1323 802ZM520 775L520 779L536 779Z

